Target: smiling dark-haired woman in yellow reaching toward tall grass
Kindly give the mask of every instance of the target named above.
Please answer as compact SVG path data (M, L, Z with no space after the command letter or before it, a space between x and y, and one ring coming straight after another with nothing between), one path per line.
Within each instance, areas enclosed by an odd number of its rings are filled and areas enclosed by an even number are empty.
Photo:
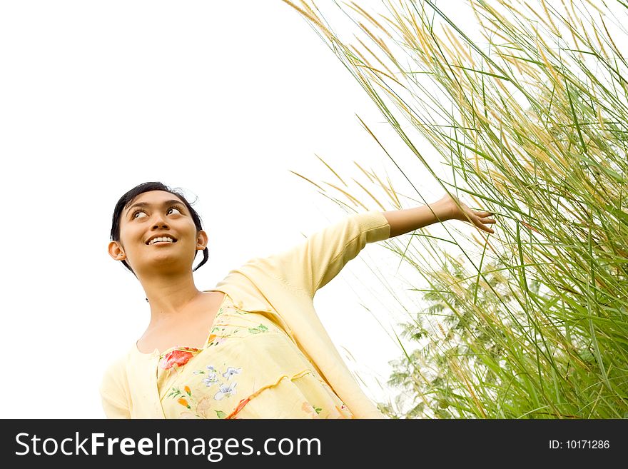
M366 243L452 219L493 233L491 215L451 196L358 213L199 291L192 273L208 238L198 213L162 183L136 186L113 211L108 252L140 281L151 320L103 377L107 417L383 418L320 323L315 292Z

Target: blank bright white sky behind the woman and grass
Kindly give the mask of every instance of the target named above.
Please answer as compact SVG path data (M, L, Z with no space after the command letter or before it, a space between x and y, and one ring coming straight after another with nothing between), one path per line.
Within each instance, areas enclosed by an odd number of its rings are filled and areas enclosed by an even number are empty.
M333 1L316 3L335 24ZM355 114L388 136L388 151L410 156L280 0L2 2L0 61L9 202L0 229L1 418L103 417L103 370L149 318L140 284L106 251L113 206L128 189L162 181L198 196L210 258L195 280L210 289L249 258L345 216L290 173L333 182L315 154L341 176L364 181L355 160L399 179ZM422 196L440 198L412 165ZM375 317L388 327L395 307L365 261L405 295L398 259L375 244L318 291L315 307L368 393L384 398L373 383L388 379L401 351Z

